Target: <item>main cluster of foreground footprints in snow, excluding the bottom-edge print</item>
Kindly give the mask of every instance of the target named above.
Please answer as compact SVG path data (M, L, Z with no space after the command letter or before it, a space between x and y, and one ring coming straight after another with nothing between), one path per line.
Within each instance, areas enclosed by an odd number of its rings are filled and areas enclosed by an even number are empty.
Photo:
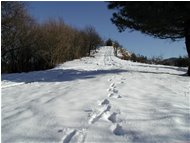
M109 82L112 82L112 79L108 79ZM120 84L123 84L124 82L119 82ZM117 136L121 136L125 134L125 131L122 129L121 122L122 120L118 119L118 112L111 112L111 103L109 101L109 98L115 98L119 99L122 98L122 96L119 94L119 91L117 89L116 83L112 82L110 84L110 87L107 89L108 92L108 98L105 98L103 101L99 102L99 108L98 110L94 111L91 115L91 118L89 119L89 124L94 124L99 119L104 118L107 121L111 122L111 130L113 134Z

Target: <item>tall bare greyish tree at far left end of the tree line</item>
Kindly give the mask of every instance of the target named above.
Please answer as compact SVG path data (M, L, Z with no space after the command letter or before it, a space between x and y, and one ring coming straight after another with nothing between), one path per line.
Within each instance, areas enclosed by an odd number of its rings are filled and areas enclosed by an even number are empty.
M1 2L1 63L4 72L26 70L29 61L32 18L27 14L23 2Z

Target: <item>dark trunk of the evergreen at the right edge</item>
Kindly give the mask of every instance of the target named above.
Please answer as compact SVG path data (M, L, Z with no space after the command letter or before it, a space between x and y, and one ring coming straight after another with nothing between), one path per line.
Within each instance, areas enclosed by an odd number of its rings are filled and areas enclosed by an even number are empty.
M185 24L185 45L188 53L188 58L190 61L190 20L187 20ZM187 75L190 76L190 62L188 65Z

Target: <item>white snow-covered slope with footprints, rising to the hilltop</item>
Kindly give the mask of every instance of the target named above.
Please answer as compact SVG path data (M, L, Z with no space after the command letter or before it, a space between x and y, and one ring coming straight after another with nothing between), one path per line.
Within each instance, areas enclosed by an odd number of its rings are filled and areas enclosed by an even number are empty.
M112 47L54 69L2 75L3 143L190 142L186 68L124 61Z

